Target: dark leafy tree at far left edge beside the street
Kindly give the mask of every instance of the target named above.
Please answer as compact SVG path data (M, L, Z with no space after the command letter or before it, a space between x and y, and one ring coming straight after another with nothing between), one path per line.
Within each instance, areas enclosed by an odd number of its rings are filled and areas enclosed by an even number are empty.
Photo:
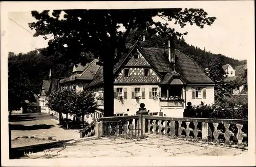
M11 114L13 110L19 110L25 100L35 102L34 92L27 75L15 61L14 53L9 53L8 57L8 110Z

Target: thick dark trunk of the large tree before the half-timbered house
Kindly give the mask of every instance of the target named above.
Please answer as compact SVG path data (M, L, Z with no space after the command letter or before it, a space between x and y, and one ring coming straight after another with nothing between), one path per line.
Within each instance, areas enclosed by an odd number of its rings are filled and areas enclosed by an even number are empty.
M104 117L114 116L114 53L104 57L103 80L104 80Z

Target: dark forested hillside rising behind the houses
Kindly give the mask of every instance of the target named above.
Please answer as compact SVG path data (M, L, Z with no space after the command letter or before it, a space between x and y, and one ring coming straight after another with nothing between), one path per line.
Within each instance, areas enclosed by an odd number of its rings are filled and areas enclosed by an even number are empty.
M126 41L127 46L133 45L141 37L138 31L131 31L129 38ZM164 47L167 43L167 38L158 35L146 35L145 41L141 42L145 47ZM185 42L184 38L176 41L176 49L180 50L190 58L194 59L196 63L205 69L208 67L210 61L214 57L219 57L222 64L231 64L233 67L243 64L243 61L234 60L222 54L214 54L205 49L189 45ZM86 54L88 60L93 60L92 54ZM60 53L55 55L47 55L46 49L36 49L28 53L14 54L9 52L8 68L17 66L26 77L28 77L33 91L38 94L41 88L42 80L48 79L49 70L51 69L52 77L68 77L71 75L73 62L65 59Z

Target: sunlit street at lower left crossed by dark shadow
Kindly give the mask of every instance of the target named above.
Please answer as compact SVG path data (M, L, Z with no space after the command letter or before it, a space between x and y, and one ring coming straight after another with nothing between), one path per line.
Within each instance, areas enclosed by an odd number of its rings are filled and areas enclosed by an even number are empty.
M13 115L11 124L11 138L22 136L36 136L40 138L53 137L57 140L80 138L78 130L66 130L52 120L52 116L44 113Z

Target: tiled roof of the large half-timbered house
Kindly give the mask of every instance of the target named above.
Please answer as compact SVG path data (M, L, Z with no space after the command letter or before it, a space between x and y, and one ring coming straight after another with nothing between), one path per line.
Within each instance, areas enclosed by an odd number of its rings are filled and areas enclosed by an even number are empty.
M199 67L199 65L191 58L189 58L184 53L175 49L176 63L175 71L173 70L172 63L169 62L167 54L164 53L163 48L146 48L139 47L137 44L133 45L129 51L123 53L114 65L114 74L121 68L125 60L129 57L132 50L137 47L145 60L150 66L156 71L156 73L161 77L161 84L167 84L173 81L174 76L178 77L173 84L214 84L204 71ZM179 80L180 78L180 80ZM176 83L177 82L177 83ZM98 72L95 74L93 81L88 85L87 88L97 86L98 84L103 84L103 68L99 68Z

